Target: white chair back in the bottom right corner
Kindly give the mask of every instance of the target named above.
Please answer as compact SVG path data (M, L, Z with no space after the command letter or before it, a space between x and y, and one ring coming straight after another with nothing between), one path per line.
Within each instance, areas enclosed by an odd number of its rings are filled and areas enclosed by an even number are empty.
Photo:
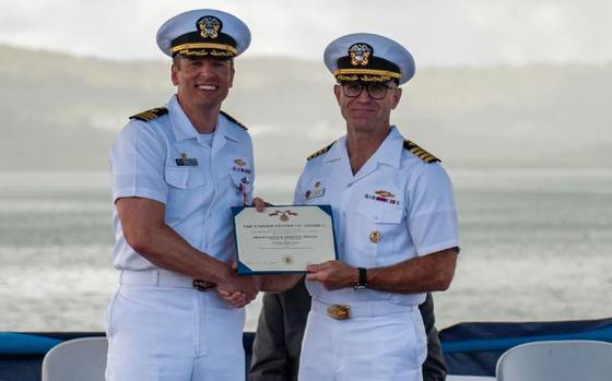
M612 344L593 341L533 342L497 360L497 381L612 380Z

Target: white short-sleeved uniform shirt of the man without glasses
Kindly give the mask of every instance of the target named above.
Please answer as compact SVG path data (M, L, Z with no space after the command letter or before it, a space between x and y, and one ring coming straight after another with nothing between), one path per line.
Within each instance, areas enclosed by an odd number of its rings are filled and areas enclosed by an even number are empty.
M221 261L235 257L232 206L252 200L252 143L248 133L219 116L212 147L189 121L176 96L168 114L131 120L110 152L113 197L140 197L165 204L165 222L192 247ZM157 269L126 241L117 207L114 265Z

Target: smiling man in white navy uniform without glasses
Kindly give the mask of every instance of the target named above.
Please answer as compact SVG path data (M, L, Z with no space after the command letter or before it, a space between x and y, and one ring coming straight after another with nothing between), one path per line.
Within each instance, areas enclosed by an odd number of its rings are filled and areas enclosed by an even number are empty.
M114 265L106 379L244 381L240 307L255 277L239 277L231 206L250 204L254 155L246 128L221 111L248 27L215 10L164 23L176 95L131 117L110 154ZM215 288L235 293L233 303Z

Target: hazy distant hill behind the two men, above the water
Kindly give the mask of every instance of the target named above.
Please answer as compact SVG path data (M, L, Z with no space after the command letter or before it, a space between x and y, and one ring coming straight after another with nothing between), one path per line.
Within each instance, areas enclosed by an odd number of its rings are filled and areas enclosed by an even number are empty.
M242 58L224 109L261 170L294 171L344 133L318 62ZM392 122L450 167L609 167L612 64L422 69ZM0 45L0 170L105 169L129 115L174 92L169 61L113 62Z

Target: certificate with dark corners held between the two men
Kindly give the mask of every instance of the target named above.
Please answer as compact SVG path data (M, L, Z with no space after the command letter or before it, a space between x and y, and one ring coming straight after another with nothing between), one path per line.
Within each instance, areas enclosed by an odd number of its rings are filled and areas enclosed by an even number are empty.
M238 274L305 273L338 259L329 205L232 207Z

